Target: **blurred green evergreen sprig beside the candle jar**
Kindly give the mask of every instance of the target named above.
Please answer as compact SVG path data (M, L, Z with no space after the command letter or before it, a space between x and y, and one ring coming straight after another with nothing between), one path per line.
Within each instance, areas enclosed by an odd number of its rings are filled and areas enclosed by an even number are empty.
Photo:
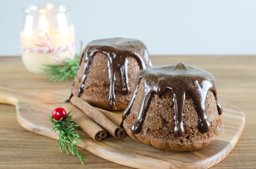
M80 45L82 51L83 43L80 42ZM49 80L53 82L61 82L69 78L74 78L79 67L80 53L76 54L73 60L67 59L60 62L60 64L45 64L42 70L49 76Z

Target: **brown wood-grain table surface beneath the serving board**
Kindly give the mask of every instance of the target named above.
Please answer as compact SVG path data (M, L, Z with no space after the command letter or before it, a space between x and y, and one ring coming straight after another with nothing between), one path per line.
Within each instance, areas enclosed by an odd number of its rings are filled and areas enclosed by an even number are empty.
M218 99L236 105L246 125L236 147L213 168L256 168L256 56L151 56L153 65L186 64L210 71L216 79ZM40 94L69 94L72 80L49 82L47 76L25 70L20 57L0 57L0 86ZM225 124L224 124L225 125ZM56 140L26 131L18 124L15 107L0 104L0 168L129 168L79 148L85 165L60 153Z

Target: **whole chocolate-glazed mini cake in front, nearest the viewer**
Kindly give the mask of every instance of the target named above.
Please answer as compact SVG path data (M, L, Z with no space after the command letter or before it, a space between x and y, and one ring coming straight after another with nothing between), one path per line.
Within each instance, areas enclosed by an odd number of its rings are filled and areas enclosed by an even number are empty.
M212 74L179 62L139 71L123 125L144 144L192 151L223 131L221 113Z

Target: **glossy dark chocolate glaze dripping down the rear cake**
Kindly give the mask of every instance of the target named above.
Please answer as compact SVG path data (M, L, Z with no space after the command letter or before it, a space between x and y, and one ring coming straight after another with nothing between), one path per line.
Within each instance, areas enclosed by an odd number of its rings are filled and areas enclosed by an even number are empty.
M115 74L119 70L121 74L122 93L127 95L130 91L128 82L128 57L133 57L139 63L140 69L146 69L151 67L151 61L148 58L148 51L144 44L139 40L113 38L94 40L90 42L81 55L79 67L81 66L82 59L85 60L85 66L83 67L83 75L81 83L79 85L77 96L79 97L85 87L85 80L89 73L90 65L92 64L93 57L96 53L103 53L108 56L108 74L110 80L109 90L109 106L111 109L115 109ZM77 73L78 74L78 73ZM74 87L71 87L71 91Z

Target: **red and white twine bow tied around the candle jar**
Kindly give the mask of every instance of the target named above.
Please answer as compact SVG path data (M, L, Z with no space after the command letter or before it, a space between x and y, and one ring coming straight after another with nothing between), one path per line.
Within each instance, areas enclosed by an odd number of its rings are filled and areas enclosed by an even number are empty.
M45 34L46 42L44 42L43 39L40 37L41 33ZM40 42L35 42L34 44L40 48L23 47L20 45L20 50L25 51L27 53L51 53L57 64L60 64L60 61L65 61L64 58L61 58L60 56L57 55L57 53L61 53L63 51L69 51L71 59L73 59L74 56L72 55L71 49L76 45L76 42L73 42L71 44L68 44L62 47L52 48L50 36L48 32L38 31L37 37Z

